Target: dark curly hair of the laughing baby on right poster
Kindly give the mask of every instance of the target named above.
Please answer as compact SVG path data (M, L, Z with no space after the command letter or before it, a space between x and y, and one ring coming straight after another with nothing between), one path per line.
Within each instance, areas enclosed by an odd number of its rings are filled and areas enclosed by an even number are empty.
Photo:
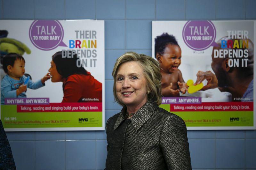
M162 35L159 35L155 38L155 58L157 53L160 55L164 54L164 49L167 44L179 46L176 38L173 35L169 35L168 33L163 33Z

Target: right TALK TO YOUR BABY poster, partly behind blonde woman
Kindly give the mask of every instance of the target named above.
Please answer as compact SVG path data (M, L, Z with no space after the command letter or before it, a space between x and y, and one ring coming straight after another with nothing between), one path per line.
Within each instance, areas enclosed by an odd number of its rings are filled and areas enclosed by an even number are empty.
M188 130L256 129L256 21L152 21L162 104Z

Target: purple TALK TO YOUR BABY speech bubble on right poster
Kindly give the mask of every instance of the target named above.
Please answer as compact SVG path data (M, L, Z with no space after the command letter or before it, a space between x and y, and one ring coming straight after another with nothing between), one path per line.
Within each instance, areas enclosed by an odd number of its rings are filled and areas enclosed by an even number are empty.
M216 29L211 21L188 21L182 30L186 45L200 51L215 44Z

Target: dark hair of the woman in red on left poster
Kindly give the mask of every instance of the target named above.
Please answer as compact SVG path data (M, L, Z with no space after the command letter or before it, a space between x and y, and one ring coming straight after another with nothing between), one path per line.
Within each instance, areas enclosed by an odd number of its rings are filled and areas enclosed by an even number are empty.
M84 69L84 67L77 67L76 62L77 60L80 60L76 54L73 54L72 58L68 57L62 57L62 52L69 54L71 51L59 51L56 52L54 55L52 55L52 61L56 65L56 69L58 73L63 78L68 78L68 76L72 74L84 74L87 75L87 71Z

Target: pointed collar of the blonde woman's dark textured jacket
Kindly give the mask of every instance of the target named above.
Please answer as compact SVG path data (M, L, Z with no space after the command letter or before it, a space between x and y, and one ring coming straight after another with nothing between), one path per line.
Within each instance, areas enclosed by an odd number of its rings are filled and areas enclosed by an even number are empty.
M148 100L140 109L132 116L131 122L134 127L134 129L137 131L140 129L140 127L147 122L149 117L154 114L154 112L157 110L158 106L157 104L152 101ZM126 114L126 107L123 107L123 109L120 112L120 115L118 116L114 130L124 121Z

